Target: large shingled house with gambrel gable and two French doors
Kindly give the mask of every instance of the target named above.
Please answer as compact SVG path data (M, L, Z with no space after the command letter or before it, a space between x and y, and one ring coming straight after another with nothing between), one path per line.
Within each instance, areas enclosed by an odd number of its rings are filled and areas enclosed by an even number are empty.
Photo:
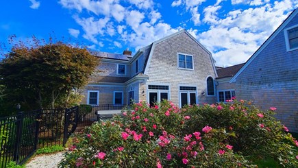
M210 51L182 29L139 49L134 56L98 52L101 64L84 90L83 104L112 106L131 100L169 99L186 104L214 103L217 77Z

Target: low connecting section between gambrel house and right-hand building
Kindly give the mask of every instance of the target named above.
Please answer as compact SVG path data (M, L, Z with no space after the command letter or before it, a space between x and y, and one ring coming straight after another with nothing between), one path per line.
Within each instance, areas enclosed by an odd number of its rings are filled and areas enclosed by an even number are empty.
M236 64L231 67L216 67L217 77L215 80L217 102L225 102L227 99L232 99L235 95L235 83L229 82L234 75L244 66Z

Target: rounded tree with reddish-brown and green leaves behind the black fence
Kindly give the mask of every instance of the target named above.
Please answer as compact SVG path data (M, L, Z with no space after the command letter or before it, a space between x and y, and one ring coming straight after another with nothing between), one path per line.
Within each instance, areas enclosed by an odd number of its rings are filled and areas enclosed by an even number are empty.
M0 62L5 95L31 109L64 107L62 100L87 84L99 60L86 48L32 39L31 45L15 43Z

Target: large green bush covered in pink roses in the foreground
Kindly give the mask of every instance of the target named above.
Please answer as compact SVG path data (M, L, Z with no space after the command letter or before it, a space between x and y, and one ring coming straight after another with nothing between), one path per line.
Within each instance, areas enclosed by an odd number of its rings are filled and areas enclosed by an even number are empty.
M274 110L250 104L232 99L181 109L142 101L75 134L60 167L256 167L253 158L297 167L298 141Z

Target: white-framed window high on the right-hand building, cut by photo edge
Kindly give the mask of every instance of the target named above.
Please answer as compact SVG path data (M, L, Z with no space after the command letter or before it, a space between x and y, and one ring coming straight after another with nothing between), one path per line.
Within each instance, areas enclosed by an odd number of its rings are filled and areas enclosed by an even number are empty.
M298 25L284 29L286 51L298 49Z

